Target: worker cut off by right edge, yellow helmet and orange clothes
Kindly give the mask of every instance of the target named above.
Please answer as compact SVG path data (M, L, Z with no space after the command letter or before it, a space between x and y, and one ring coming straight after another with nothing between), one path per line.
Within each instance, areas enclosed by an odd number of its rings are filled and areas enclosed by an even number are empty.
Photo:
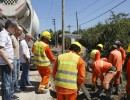
M126 80L127 80L127 84L126 84L126 94L127 94L127 100L130 100L130 45L128 46L127 49L127 65L126 65Z

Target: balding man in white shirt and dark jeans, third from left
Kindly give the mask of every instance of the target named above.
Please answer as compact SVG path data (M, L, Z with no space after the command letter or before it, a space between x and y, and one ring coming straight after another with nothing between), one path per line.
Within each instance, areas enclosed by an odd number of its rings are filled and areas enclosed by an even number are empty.
M20 89L22 91L26 89L26 85L32 85L29 80L30 51L27 45L31 38L30 34L26 34L25 39L20 41L20 63L22 65Z

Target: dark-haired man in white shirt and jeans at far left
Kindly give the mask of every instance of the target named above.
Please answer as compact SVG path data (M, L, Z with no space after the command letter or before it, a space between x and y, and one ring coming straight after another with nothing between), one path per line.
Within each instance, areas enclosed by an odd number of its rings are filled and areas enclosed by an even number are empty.
M2 72L2 100L16 100L11 92L14 51L11 35L15 32L17 23L13 19L8 19L5 23L5 29L0 31L0 69Z

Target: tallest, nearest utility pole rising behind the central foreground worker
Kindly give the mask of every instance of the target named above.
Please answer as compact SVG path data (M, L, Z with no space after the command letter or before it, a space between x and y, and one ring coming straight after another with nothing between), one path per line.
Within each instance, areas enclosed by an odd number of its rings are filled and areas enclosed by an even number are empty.
M64 0L62 0L62 53L65 49L65 37L64 37Z

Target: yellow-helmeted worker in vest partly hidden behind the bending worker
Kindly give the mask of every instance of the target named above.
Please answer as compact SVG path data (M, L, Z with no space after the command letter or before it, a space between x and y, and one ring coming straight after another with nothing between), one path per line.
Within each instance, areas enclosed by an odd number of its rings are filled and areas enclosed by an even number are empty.
M91 53L90 53L90 60L91 61L96 61L96 60L99 60L99 59L103 59L105 61L106 58L101 58L101 50L103 50L103 45L102 44L98 44L96 46L96 49L92 50ZM97 76L93 76L92 74L92 85L95 87L97 85Z

